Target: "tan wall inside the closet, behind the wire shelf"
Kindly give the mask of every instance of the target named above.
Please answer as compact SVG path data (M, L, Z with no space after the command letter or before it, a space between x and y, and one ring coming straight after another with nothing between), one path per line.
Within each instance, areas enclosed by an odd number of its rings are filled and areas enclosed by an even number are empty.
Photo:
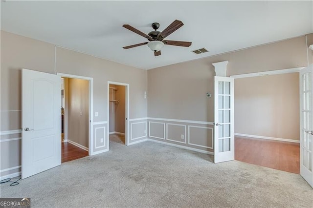
M122 85L110 84L110 87L115 87L116 90L110 89L110 99L113 95L113 100L118 103L110 103L110 132L120 132L125 134L125 96L126 87Z

